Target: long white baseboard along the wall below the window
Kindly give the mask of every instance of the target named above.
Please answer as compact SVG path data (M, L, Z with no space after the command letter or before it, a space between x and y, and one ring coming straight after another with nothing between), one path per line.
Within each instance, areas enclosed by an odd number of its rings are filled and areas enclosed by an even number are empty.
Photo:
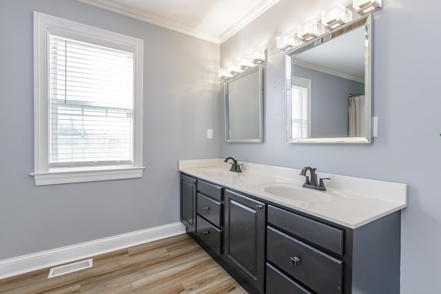
M0 260L0 279L185 233L181 222Z

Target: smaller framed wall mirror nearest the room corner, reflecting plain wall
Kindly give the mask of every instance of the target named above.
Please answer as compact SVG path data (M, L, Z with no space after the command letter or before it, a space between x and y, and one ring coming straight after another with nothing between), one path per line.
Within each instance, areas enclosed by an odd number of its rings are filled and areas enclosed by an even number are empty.
M225 81L225 138L230 143L263 142L263 67Z

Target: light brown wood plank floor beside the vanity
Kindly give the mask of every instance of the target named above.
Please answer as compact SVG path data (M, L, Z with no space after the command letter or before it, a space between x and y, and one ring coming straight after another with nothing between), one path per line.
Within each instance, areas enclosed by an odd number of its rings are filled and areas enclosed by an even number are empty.
M97 255L90 269L48 273L0 280L0 293L247 293L186 234Z

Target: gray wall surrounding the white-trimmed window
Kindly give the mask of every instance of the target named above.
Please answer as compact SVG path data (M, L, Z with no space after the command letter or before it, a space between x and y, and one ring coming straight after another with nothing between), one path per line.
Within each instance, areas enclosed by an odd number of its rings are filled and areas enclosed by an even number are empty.
M33 10L144 40L142 179L34 186ZM219 46L74 0L0 0L0 38L0 260L178 222L177 161L219 154Z

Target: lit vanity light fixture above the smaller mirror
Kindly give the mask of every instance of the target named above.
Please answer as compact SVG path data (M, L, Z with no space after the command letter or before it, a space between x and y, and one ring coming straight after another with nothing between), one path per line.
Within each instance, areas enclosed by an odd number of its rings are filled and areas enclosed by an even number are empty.
M265 61L267 61L266 57L266 50L256 48L251 54L242 56L238 61L229 63L227 67L220 68L218 76L223 80L227 80L232 76L236 76L236 74L240 74L240 72L243 72L244 70L265 63Z

